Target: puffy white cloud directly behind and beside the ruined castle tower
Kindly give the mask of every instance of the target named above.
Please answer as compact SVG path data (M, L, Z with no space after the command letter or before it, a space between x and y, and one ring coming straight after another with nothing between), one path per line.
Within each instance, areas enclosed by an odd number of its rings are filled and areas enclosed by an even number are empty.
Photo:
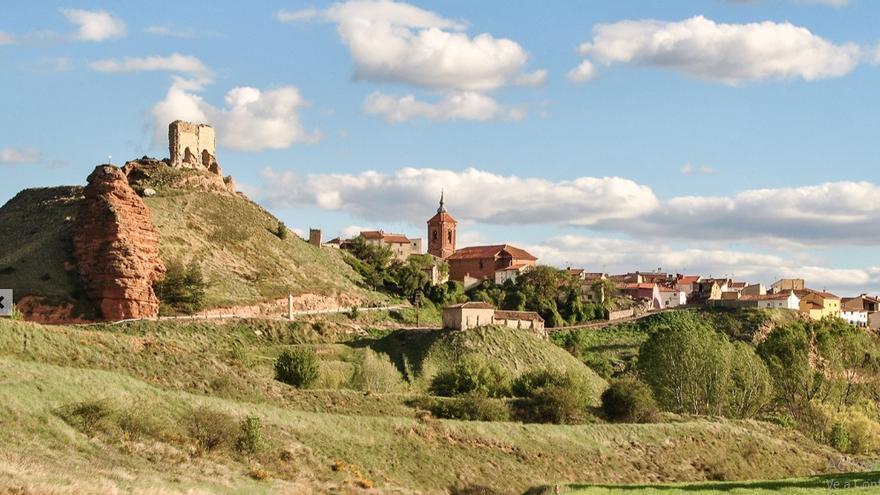
M168 123L177 119L213 125L218 144L236 150L284 149L320 139L320 133L306 131L299 121L306 101L294 86L266 91L236 87L226 93L222 108L206 102L198 94L201 89L197 81L177 79L165 99L153 105L156 142L164 142Z

